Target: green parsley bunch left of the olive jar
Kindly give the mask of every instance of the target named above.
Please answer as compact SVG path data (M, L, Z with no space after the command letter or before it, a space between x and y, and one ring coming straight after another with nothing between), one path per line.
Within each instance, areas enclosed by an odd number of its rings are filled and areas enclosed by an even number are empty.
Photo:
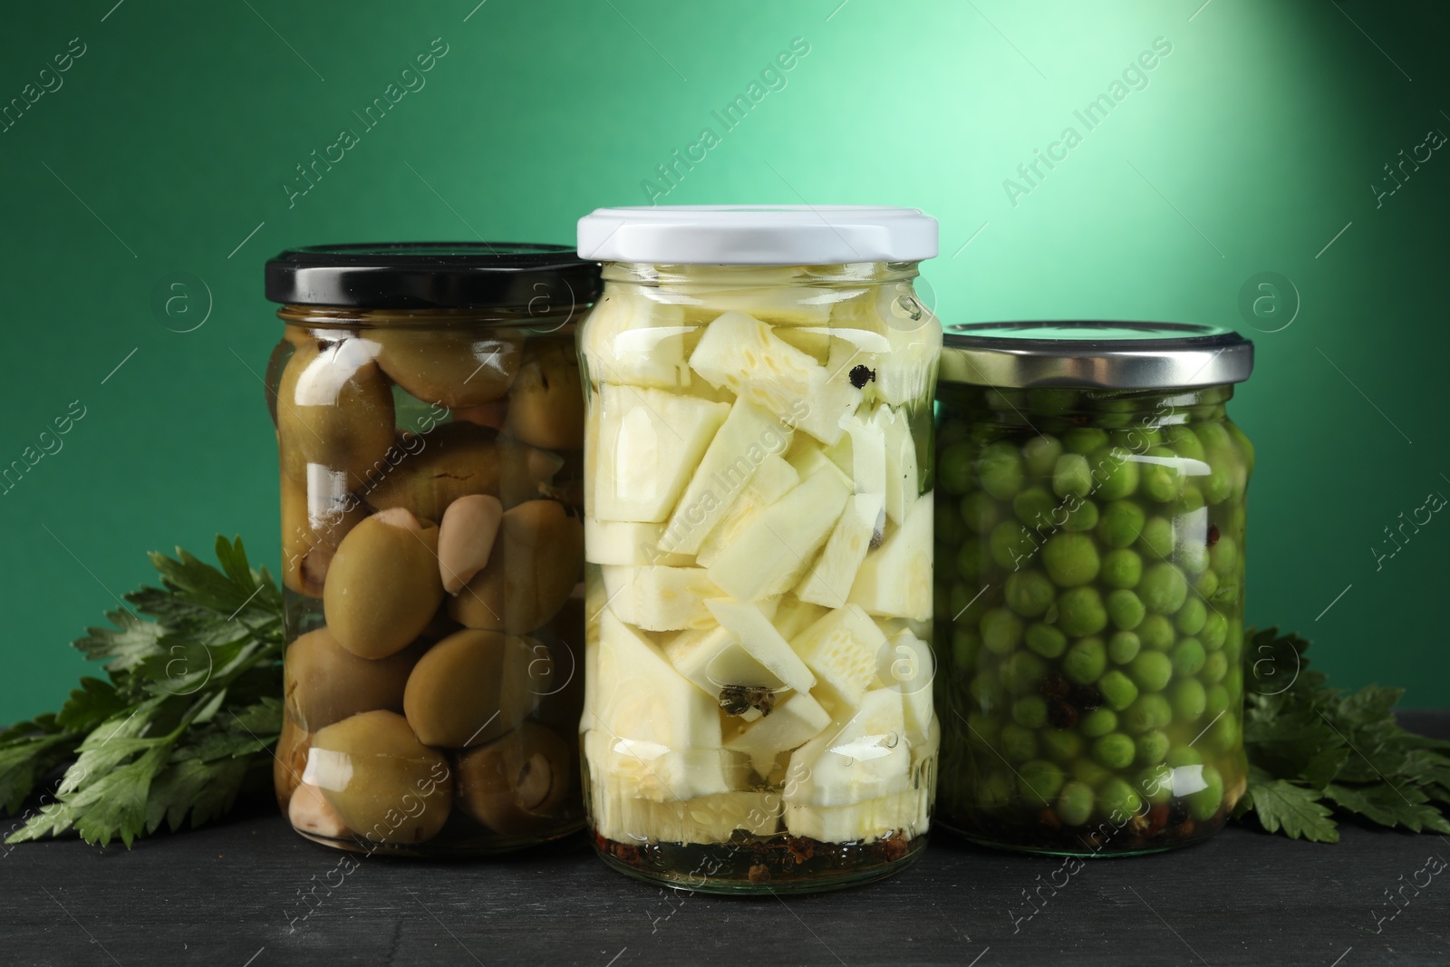
M186 551L152 554L161 587L126 594L112 628L74 642L109 680L81 678L54 715L0 732L0 808L71 761L46 805L9 842L74 829L87 842L180 829L226 813L270 781L281 728L283 602L241 539L218 536L212 567ZM142 618L146 616L146 618ZM149 618L149 621L148 621Z

